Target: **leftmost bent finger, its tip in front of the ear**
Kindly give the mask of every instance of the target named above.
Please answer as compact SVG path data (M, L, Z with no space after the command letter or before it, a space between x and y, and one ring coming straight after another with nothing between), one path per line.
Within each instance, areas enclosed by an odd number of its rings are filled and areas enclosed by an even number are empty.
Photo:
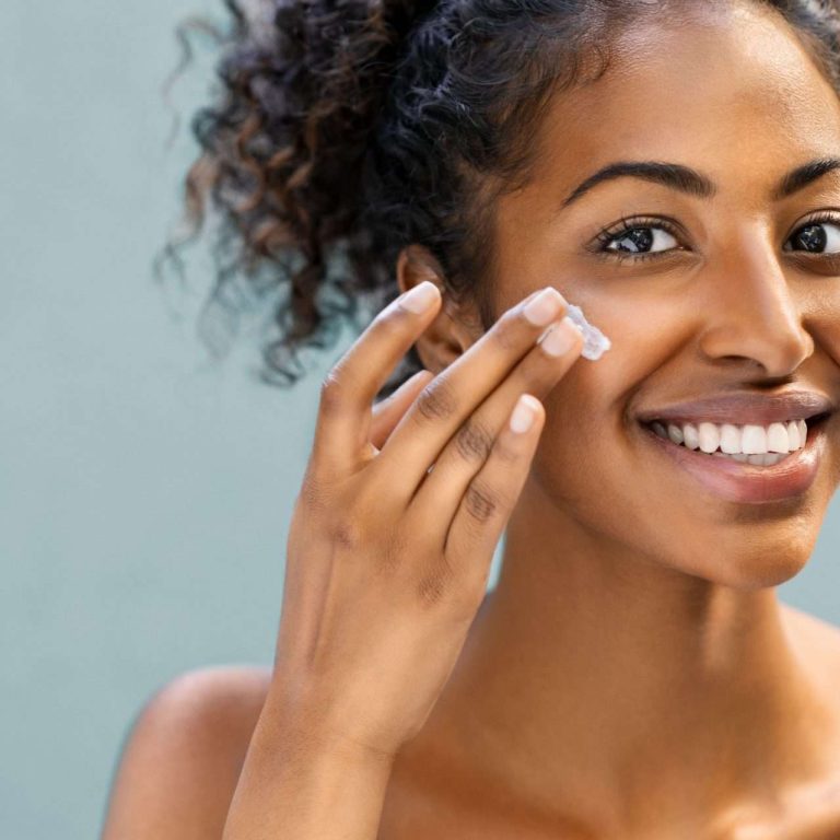
M440 302L440 291L428 280L405 292L374 317L327 374L312 447L314 471L334 475L357 465L368 443L374 397L429 326Z

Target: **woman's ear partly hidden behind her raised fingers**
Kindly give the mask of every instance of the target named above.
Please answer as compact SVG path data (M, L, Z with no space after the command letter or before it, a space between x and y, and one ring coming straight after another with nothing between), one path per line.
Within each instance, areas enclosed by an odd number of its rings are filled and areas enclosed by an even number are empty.
M424 246L406 246L397 257L397 284L400 294L423 280L431 280L443 295L443 303L434 320L417 339L417 353L423 366L435 375L457 359L481 335L475 313L459 306L445 293L441 264Z

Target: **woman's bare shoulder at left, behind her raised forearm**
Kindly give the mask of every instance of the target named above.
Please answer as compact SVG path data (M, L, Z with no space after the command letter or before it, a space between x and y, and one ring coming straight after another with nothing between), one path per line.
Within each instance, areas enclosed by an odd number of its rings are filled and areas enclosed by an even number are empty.
M221 837L270 677L206 667L155 691L125 740L103 840Z

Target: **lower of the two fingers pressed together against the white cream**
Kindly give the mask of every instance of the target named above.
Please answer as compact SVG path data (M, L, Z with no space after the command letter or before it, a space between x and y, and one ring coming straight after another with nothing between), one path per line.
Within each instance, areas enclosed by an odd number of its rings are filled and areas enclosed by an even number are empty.
M569 330L568 343L542 340L514 369L508 378L462 424L411 500L411 509L422 521L436 522L454 511L476 474L490 455L497 436L504 429L516 400L523 393L544 399L580 358L583 336L564 318L556 330ZM547 350L556 351L547 352Z

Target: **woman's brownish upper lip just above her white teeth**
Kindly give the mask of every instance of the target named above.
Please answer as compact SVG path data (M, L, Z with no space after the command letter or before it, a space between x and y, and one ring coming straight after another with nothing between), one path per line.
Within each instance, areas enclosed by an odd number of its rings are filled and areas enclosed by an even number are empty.
M661 420L668 423L735 423L739 425L807 420L835 410L827 396L813 390L789 390L784 394L724 394L691 402L642 411L643 423Z

